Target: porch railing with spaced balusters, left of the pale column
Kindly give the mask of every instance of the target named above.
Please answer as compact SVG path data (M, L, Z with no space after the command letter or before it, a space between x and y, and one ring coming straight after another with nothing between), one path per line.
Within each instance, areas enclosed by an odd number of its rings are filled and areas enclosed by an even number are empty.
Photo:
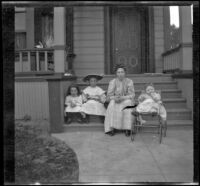
M54 49L15 50L15 72L54 71Z

